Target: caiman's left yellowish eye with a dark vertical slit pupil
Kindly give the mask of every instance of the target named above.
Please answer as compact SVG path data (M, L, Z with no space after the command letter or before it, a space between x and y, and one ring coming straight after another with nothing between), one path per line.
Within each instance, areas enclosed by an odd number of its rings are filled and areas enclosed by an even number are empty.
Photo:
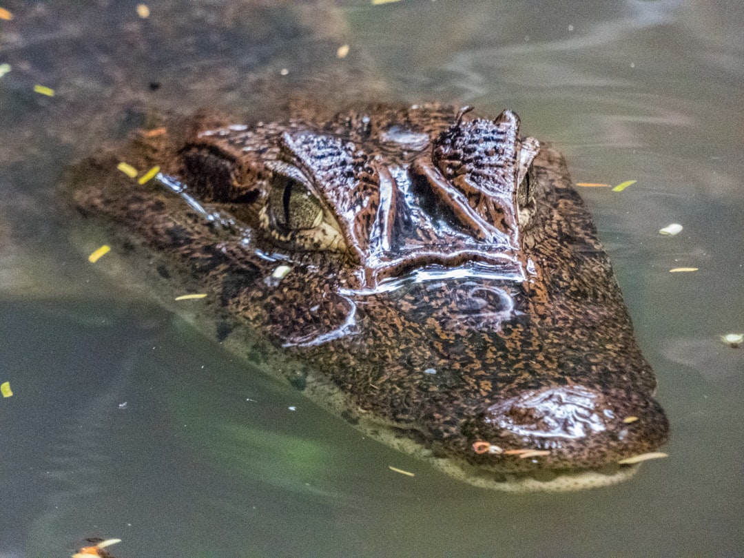
M315 228L323 221L323 208L301 180L274 173L269 190L272 222L289 231Z

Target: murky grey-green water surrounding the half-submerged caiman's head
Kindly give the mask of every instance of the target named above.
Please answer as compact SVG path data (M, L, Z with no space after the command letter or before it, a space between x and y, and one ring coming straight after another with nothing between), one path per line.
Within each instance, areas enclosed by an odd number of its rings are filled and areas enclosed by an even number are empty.
M135 2L5 1L0 557L68 556L86 536L123 539L119 558L744 554L744 350L718 337L744 330L744 7L566 4L161 1L141 19ZM582 193L658 377L670 458L585 493L460 484L71 248L62 169L142 107L272 118L298 91L510 107L577 182L638 180ZM670 222L684 231L658 235Z

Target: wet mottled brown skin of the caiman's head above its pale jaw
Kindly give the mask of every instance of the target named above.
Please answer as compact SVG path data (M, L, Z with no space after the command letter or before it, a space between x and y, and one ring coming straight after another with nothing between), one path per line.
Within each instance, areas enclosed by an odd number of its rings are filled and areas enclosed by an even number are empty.
M347 417L497 474L595 469L666 441L589 214L561 155L521 138L516 115L378 106L169 126L126 158L159 164L222 225L106 157L77 208L143 238L307 361ZM540 451L509 451L521 449Z

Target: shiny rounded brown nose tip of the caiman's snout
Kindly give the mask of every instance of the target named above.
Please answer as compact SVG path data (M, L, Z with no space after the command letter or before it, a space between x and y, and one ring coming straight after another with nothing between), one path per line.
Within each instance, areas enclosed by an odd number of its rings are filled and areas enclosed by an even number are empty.
M597 468L653 451L668 431L661 407L645 394L564 385L522 391L488 406L476 420L473 452L489 449L484 457L494 464Z

